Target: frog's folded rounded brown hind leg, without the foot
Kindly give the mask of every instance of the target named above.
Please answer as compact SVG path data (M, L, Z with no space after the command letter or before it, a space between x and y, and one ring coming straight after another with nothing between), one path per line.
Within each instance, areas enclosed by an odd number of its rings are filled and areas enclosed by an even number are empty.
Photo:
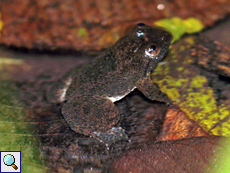
M109 99L75 95L62 108L62 114L75 132L95 136L115 126L120 114Z

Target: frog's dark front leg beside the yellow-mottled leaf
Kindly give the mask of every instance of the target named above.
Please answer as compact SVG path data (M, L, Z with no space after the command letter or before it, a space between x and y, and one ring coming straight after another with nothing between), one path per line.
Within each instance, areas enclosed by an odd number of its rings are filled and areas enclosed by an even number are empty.
M171 100L167 97L167 95L161 92L158 86L151 81L150 76L139 81L137 83L137 89L150 100L171 103Z

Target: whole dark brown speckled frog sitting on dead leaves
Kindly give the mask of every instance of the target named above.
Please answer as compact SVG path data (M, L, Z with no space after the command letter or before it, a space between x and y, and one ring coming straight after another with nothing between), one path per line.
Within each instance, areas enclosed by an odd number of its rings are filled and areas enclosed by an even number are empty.
M135 89L150 100L170 102L150 74L168 52L171 40L172 34L165 29L138 23L93 61L58 79L47 99L63 103L62 115L77 133L97 138L120 131L127 138L123 129L115 127L122 115L114 103Z

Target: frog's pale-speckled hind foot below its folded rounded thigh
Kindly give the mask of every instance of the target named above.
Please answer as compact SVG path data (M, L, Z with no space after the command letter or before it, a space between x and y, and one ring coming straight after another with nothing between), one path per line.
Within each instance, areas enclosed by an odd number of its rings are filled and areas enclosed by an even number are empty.
M109 150L109 147L117 141L129 141L128 135L125 133L125 130L121 127L113 127L106 132L93 132L94 137L100 142L104 143L106 148Z

